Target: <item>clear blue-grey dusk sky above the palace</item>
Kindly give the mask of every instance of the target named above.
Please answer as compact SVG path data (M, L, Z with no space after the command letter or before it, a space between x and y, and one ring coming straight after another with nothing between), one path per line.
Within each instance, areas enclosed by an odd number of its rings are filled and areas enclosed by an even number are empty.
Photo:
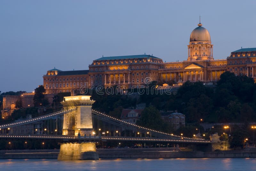
M255 0L1 0L0 91L32 92L47 70L88 70L102 56L186 60L199 15L214 59L226 59L256 48L255 9Z

